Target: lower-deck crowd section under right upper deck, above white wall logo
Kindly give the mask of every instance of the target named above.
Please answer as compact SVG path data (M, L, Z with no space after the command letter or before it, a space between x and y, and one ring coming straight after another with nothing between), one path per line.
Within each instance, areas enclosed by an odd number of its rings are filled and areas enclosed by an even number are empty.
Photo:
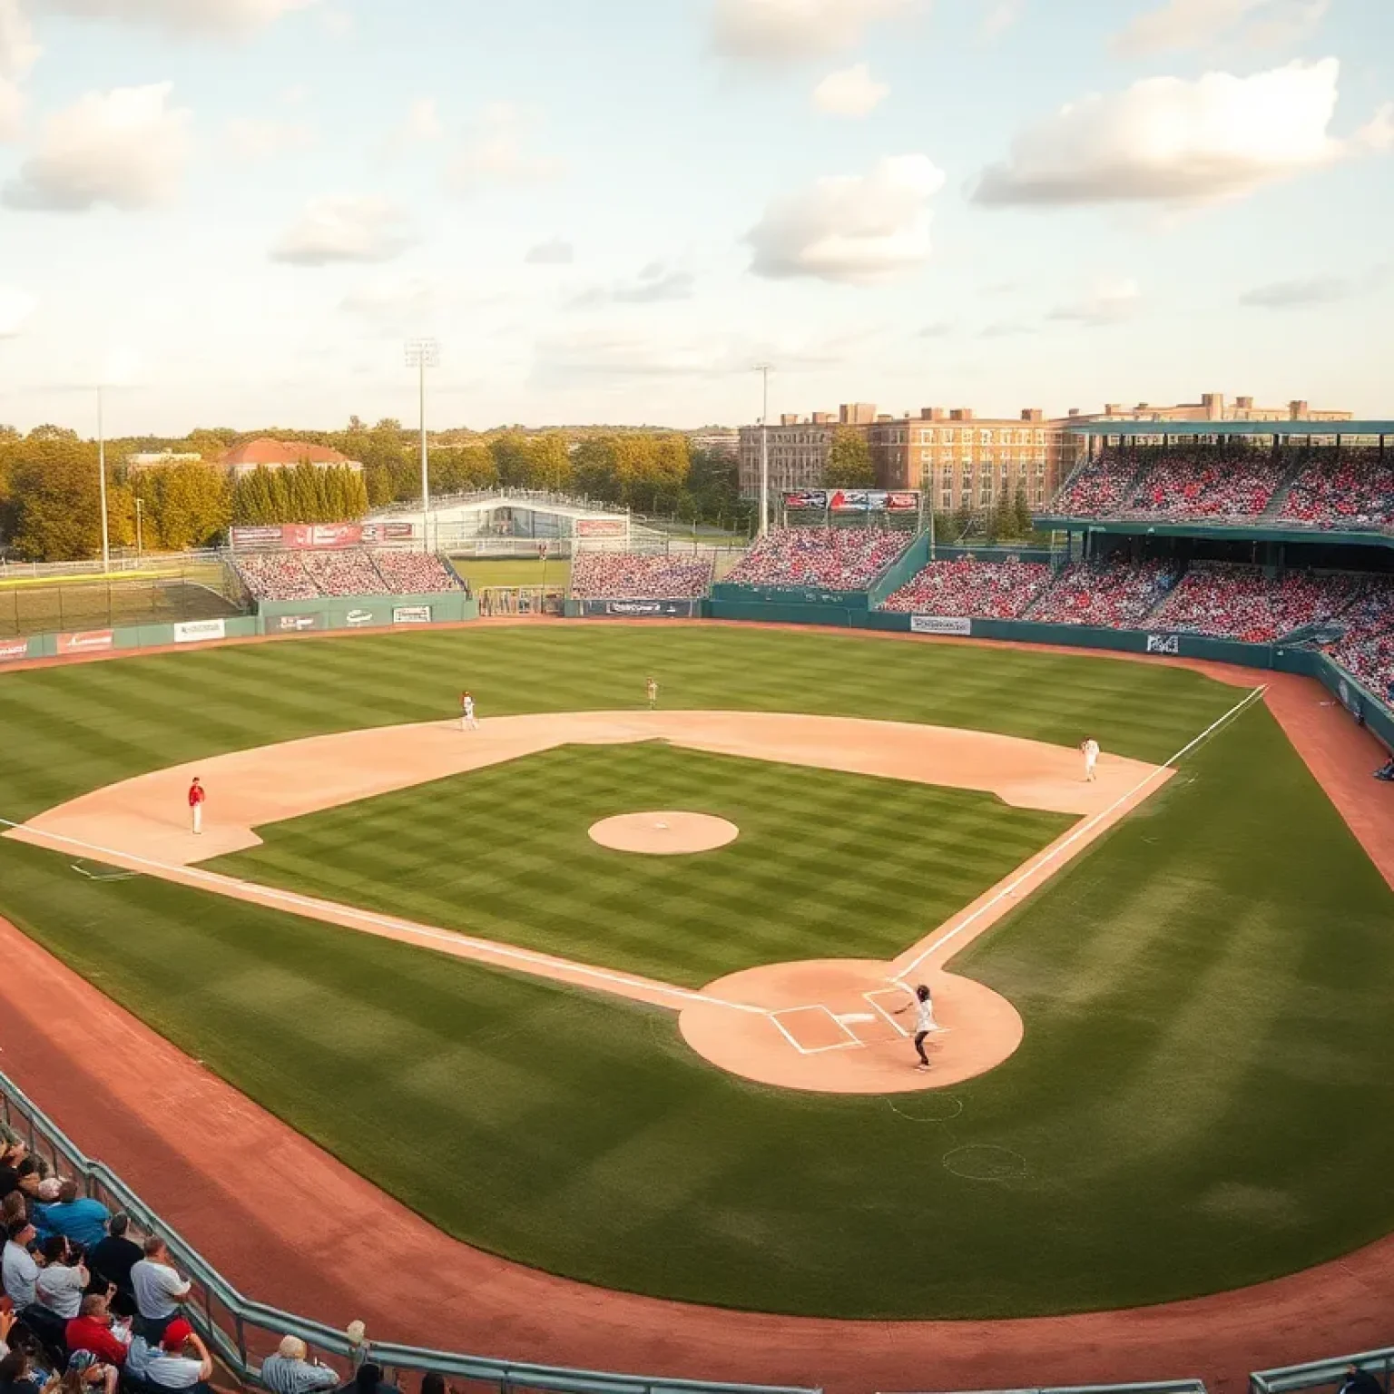
M1327 623L1358 598L1363 581L1344 574L1196 562L1158 606L1158 629L1271 644L1305 625Z

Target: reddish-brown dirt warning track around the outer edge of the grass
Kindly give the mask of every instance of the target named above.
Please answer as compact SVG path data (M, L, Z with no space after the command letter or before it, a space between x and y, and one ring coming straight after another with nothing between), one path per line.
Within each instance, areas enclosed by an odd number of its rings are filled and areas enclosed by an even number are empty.
M1270 683L1270 710L1394 885L1394 786L1369 778L1383 761L1373 737L1308 679L1182 666L1234 686ZM1252 1369L1388 1340L1394 1238L1210 1298L1013 1322L775 1317L553 1278L446 1238L3 921L0 952L3 1068L244 1292L339 1327L364 1317L378 1338L834 1394L1174 1376L1241 1394ZM256 1179L268 1175L273 1207ZM385 1255L407 1252L413 1262L393 1264L385 1282Z

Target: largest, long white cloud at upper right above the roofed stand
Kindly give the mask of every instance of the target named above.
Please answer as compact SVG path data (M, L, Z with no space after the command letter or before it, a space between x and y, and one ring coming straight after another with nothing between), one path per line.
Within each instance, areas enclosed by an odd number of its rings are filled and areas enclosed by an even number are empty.
M1388 117L1354 141L1328 132L1341 66L1292 63L1248 78L1147 78L1092 93L1023 131L984 170L979 204L1206 204L1379 148ZM1394 135L1394 131L1390 132Z

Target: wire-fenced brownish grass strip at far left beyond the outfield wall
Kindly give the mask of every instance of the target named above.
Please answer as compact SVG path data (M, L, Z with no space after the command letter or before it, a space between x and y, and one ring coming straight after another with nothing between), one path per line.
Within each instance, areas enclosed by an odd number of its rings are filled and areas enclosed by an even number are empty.
M229 619L247 609L220 565L149 577L0 583L0 637Z

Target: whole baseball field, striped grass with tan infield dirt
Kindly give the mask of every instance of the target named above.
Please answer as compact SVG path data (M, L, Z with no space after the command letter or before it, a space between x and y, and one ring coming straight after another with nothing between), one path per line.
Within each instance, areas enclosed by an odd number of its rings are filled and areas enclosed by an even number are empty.
M0 914L493 1253L718 1306L995 1317L1217 1292L1394 1230L1394 891L1243 686L480 626L6 673L0 733L0 815L50 829L0 838ZM592 835L669 811L739 836ZM949 967L934 945L970 921ZM934 1069L881 999L813 1023L719 988L836 960L934 969ZM1015 1036L958 1068L988 999ZM722 1057L747 1032L891 1083L761 1082Z

